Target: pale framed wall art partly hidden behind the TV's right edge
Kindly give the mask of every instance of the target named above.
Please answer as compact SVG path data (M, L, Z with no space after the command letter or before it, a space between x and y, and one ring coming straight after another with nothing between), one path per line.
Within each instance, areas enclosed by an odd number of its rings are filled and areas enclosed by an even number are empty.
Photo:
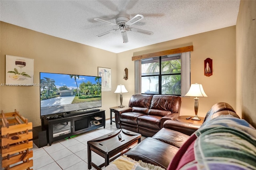
M98 67L98 76L102 77L101 91L111 91L111 69Z

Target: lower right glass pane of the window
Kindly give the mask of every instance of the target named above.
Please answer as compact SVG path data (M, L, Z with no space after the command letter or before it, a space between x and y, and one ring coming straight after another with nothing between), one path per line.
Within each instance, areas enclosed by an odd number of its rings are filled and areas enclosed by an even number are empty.
M181 75L163 75L162 76L162 94L180 95Z

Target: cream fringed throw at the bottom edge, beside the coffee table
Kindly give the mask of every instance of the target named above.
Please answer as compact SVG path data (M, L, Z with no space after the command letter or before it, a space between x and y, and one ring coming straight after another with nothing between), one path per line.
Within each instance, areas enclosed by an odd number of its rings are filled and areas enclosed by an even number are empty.
M164 170L160 166L155 166L145 162L135 161L126 155L120 156L111 164L106 166L105 170Z

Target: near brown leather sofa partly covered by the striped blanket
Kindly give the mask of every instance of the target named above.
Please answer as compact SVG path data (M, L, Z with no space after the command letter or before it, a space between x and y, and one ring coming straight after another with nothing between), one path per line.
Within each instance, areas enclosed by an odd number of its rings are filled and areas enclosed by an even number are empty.
M228 103L216 103L206 114L203 125L220 115L232 115L239 118ZM180 147L190 138L189 135L193 133L192 129L194 128L194 131L196 131L198 128L198 126L190 128L191 125L189 123L168 120L164 122L164 127L154 136L145 138L134 148L126 152L125 155L136 161L142 160L142 162L167 169Z

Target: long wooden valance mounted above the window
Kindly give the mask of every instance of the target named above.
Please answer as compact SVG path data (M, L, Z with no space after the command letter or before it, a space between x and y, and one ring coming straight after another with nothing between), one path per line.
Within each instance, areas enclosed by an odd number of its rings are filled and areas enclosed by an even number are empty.
M159 51L159 52L155 52L155 53L133 56L132 61L139 60L139 59L158 57L158 56L163 56L163 55L184 53L184 52L188 52L188 51L193 51L193 45L190 45L190 46L187 46L187 47L175 48L175 49L168 49L168 50L165 50L165 51Z

